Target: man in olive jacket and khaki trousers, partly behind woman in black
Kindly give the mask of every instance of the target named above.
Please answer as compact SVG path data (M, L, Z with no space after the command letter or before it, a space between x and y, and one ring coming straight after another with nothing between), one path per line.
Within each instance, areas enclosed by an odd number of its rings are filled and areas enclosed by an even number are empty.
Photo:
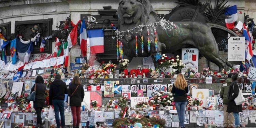
M229 73L228 74L228 79L222 84L221 86L221 92L219 93L221 95L221 98L223 99L223 106L224 106L224 122L223 122L223 125L224 125L224 128L233 128L233 122L234 122L234 117L233 117L233 114L232 113L228 113L227 112L227 108L228 108L228 90L229 90L229 86L231 85L232 83L232 80L231 80L231 76L233 74L232 73ZM229 116L228 116L229 114Z

